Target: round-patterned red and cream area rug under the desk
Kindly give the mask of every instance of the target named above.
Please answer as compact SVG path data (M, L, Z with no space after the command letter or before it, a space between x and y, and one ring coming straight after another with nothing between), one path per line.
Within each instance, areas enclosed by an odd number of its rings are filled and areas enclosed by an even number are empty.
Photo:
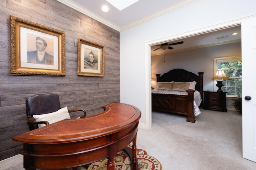
M128 145L131 149L132 145ZM137 160L139 170L162 170L162 166L158 160L152 156L149 156L147 152L143 149L137 149ZM130 170L131 160L125 150L118 152L114 158L115 170ZM98 162L94 162L89 165L88 168L84 166L79 166L77 170L107 170L108 159L102 159ZM72 169L68 169L72 170Z

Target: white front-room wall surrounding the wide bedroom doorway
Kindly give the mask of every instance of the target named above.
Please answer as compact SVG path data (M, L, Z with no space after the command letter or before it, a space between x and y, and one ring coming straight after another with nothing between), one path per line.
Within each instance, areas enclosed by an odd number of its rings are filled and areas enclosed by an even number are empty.
M138 107L140 123L146 123L151 111L148 43L236 24L255 14L255 6L255 0L200 0L120 32L120 102Z

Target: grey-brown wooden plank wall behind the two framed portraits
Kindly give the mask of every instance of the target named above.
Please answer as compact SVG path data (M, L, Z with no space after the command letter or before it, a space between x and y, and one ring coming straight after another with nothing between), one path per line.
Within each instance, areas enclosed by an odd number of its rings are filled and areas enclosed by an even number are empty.
M46 25L66 33L66 76L9 75L8 15ZM105 46L105 76L77 75L78 38ZM28 131L25 100L34 94L56 93L61 107L85 109L87 115L100 106L120 102L119 32L56 0L0 1L0 160L20 153L12 141ZM75 113L71 117L78 117ZM86 128L86 125L84 125Z

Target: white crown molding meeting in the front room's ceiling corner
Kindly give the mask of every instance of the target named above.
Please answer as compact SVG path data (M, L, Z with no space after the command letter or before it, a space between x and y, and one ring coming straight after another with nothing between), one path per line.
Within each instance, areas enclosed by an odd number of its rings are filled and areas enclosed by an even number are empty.
M129 24L127 24L127 25L124 25L124 26L122 26L122 27L118 27L117 25L111 23L110 21L105 20L104 18L98 16L97 14L94 14L93 12L87 10L86 8L84 8L84 7L80 6L80 5L78 5L78 4L74 3L74 2L72 2L72 0L57 0L57 1L59 1L59 2L61 2L62 4L65 4L65 5L67 5L67 6L71 7L71 8L73 8L74 10L77 10L77 11L79 11L79 12L82 12L83 14L85 14L85 15L87 15L87 16L93 18L94 20L97 20L97 21L99 21L99 22L101 22L101 23L104 23L105 25L107 25L107 26L109 26L109 27L115 29L116 31L121 32L121 31L124 31L124 30L126 30L126 29L128 29L128 28L131 28L131 27L134 27L134 26L136 26L136 25L139 25L140 23L144 23L144 22L146 22L146 21L148 21L148 20L152 20L152 19L154 19L154 18L156 18L156 17L158 17L158 16L161 16L161 15L164 15L164 14L166 14L166 13L168 13L168 12L177 10L177 9L179 9L179 8L182 8L182 7L184 7L184 6L187 6L187 5L189 5L189 4L192 4L192 3L194 3L194 2L197 2L197 1L199 1L199 0L182 0L181 2L178 2L178 3L176 3L176 4L172 5L172 6L169 6L169 7L166 7L166 8L164 8L164 9L162 9L162 10L159 10L159 11L157 11L157 12L154 12L153 14L150 14L150 15L144 17L144 18L141 18L141 19L139 19L139 20L136 20L136 21L134 21L134 22L132 22L132 23L129 23Z

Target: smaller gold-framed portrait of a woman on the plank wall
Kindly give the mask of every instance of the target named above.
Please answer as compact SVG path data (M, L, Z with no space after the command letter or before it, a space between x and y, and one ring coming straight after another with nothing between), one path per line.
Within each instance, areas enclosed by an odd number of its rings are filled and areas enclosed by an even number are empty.
M79 76L104 76L105 47L78 39L77 74Z

